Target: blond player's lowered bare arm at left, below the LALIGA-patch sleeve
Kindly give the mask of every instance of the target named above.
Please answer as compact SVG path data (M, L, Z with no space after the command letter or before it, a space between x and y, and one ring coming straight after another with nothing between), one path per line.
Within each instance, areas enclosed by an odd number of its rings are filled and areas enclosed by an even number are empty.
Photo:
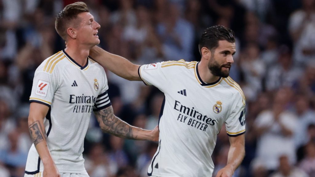
M44 117L47 115L49 107L40 103L32 102L30 105L30 114L28 116L28 128L31 139L44 164L44 176L60 177L54 160L50 155L47 146L47 136L44 128Z

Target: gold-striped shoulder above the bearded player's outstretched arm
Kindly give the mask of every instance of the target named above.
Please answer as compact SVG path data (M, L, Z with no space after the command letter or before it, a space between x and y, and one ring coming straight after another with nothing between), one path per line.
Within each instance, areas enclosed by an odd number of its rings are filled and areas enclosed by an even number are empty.
M197 64L197 61L185 61L183 59L178 61L163 61L161 62L161 68L165 69L180 69L180 70L189 70L194 69Z

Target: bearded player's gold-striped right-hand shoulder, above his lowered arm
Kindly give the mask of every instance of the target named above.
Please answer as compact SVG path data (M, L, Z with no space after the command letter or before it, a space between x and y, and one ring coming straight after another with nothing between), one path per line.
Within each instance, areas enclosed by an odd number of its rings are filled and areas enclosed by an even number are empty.
M242 88L231 77L222 78L221 85L229 90L234 100L242 100L245 105L245 96Z

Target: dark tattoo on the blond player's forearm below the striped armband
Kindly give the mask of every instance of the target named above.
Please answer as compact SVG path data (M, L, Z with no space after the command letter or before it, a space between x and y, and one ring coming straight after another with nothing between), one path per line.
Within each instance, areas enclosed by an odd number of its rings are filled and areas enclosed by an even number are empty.
M137 138L137 136L133 134L133 127L114 115L112 106L94 113L103 132L114 134L122 138Z

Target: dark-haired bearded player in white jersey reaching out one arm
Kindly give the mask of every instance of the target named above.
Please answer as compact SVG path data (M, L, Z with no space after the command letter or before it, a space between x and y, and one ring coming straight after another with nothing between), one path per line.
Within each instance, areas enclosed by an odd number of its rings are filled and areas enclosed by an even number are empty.
M225 123L230 149L227 164L217 177L231 177L245 149L245 98L229 77L236 52L234 32L224 26L204 30L201 61L166 61L134 65L99 47L90 51L101 65L120 77L142 80L165 95L159 119L159 146L148 168L149 176L212 176L211 154Z

